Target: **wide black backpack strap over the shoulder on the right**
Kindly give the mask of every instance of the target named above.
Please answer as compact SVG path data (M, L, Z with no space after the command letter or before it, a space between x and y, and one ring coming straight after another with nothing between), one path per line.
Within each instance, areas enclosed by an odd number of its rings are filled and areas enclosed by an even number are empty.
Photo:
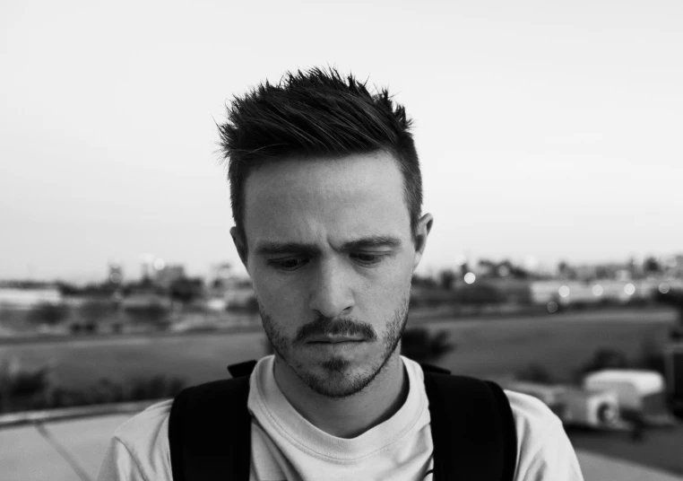
M503 389L465 376L424 375L435 481L513 481L517 439Z

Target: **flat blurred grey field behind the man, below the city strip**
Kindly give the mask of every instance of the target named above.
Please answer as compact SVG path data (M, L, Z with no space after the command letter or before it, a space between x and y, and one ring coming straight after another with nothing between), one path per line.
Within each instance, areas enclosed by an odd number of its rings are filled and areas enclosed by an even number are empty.
M529 318L411 319L410 327L445 329L454 351L438 363L453 372L506 377L531 363L569 380L596 349L618 349L636 361L656 350L675 322L673 310L596 310ZM226 377L225 367L265 352L260 329L139 337L90 337L0 344L0 360L52 367L55 380L79 388L100 378L157 374L189 384Z

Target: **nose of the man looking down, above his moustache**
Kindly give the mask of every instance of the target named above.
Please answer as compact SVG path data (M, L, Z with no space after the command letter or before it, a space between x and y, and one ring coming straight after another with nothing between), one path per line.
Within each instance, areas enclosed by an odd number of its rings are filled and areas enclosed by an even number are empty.
M309 307L328 319L348 315L354 306L350 276L340 264L321 262L311 279Z

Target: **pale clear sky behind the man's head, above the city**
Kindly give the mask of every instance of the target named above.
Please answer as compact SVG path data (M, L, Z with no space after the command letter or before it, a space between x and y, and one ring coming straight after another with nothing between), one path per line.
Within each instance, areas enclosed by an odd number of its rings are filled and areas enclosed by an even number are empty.
M0 278L238 264L216 122L297 68L414 119L420 270L683 252L683 3L0 4Z

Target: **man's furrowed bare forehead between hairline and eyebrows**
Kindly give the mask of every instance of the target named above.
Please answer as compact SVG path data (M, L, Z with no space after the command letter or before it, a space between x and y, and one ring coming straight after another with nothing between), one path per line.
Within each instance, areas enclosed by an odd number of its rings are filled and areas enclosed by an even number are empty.
M345 242L408 229L402 173L386 155L265 165L246 182L245 229L256 239Z

